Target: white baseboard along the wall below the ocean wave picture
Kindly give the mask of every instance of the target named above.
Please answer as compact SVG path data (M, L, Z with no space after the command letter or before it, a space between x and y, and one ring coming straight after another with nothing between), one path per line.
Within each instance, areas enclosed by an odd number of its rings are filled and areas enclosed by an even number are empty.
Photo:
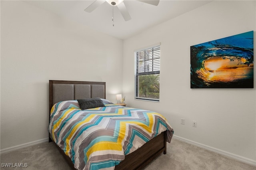
M173 135L173 138L175 139L178 139L178 140L181 140L183 142L186 142L186 143L189 143L189 144L193 144L193 145L196 145L200 148L204 148L204 149L207 149L207 150L210 150L212 152L216 152L218 154L222 154L224 156L228 156L228 157L231 157L231 158L234 158L236 160L239 160L241 162L244 162L244 163L247 163L247 164L251 164L251 165L254 165L256 166L256 160L252 160L252 159L249 159L249 158L246 158L246 157L243 157L243 156L239 156L239 155L236 155L236 154L232 154L230 152L226 152L224 150L220 150L220 149L217 149L217 148L213 148L211 146L207 146L205 144L201 144L201 143L198 143L198 142L195 142L193 140L189 140L189 139L186 139L186 138L182 138L180 136L176 136L176 135Z

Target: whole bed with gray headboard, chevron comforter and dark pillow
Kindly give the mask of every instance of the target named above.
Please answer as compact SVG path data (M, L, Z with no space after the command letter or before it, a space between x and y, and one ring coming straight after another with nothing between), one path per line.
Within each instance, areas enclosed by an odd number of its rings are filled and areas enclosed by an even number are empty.
M88 100L91 100L90 102L92 102L93 105L96 102L95 106L98 106L97 102L99 102L100 105L103 103L104 106L89 109L85 107L84 109L82 104L88 103ZM170 127L165 118L159 113L115 105L106 100L105 82L50 80L49 109L49 142L54 142L72 169L142 169L159 154L166 154L166 141L170 142L173 134L172 127ZM89 125L88 121L85 121L89 119L89 117L95 118L95 115L97 118L100 117L101 120L104 119L102 124L104 124L105 127L106 124L108 124L108 127L112 127L113 132L111 132L110 135L106 135L110 132L105 129L102 130L102 127L93 127L93 123ZM125 124L125 126L132 128L126 128L123 132L116 132L117 130L115 128L120 128L123 125L122 123L126 121L124 119L128 119L128 115L129 117L137 115L136 120L138 117L144 117L144 115L150 115L148 116L150 119L152 115L156 115L157 119L154 118L154 120L157 121L155 121L154 126L158 129L152 131L143 129L143 134L139 134L138 127L133 125L134 121L129 120L132 122L132 125ZM121 117L122 120L120 121ZM78 122L75 124L74 119L78 118L79 120L77 120ZM82 125L84 127L80 128L84 131L74 131L81 122L87 123L86 126ZM94 125L95 122L96 121L94 121ZM139 120L137 122L142 121ZM70 124L70 126L68 126L68 124ZM100 123L97 123L97 125L98 124ZM139 125L140 128L142 126L144 127L144 125ZM149 123L145 127L152 128L153 125ZM99 135L98 131L103 132L104 135ZM146 134L148 131L150 131L150 133ZM92 132L92 134L89 134L89 132ZM104 145L104 147L107 148L102 149L103 146L99 144L103 139L105 142L105 137L112 136L112 133L113 136L117 136L114 134L119 134L119 136L117 138L113 137L111 141L108 139L108 142L110 142ZM74 137L74 134L79 134L80 136ZM62 136L62 138L60 136ZM81 136L83 136L83 138ZM94 138L92 138L92 136L94 136ZM138 136L140 136L140 138L138 138ZM74 138L76 140L74 140ZM122 140L120 140L120 138ZM116 145L114 145L112 140L119 142L116 142ZM122 145L119 146L117 143ZM112 148L114 148L114 150L111 150Z

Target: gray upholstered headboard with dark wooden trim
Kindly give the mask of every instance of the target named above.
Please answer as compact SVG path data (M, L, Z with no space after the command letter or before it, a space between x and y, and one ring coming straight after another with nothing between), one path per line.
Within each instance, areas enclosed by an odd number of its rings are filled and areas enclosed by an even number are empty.
M100 97L106 99L106 82L49 80L49 109L59 101Z

